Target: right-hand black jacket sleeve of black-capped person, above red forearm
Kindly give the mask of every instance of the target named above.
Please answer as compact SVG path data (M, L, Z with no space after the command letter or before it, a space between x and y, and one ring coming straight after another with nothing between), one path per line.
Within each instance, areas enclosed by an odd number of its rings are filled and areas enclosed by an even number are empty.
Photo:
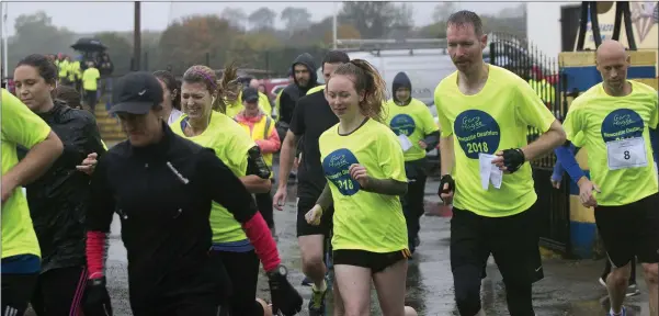
M196 166L201 189L206 190L211 200L225 206L236 221L246 223L257 214L252 195L213 149L202 149L197 154Z

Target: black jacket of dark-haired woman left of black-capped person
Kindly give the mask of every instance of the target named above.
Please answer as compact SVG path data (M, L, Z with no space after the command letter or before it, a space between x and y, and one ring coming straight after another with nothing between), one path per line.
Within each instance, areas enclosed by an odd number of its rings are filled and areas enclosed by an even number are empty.
M26 185L30 215L42 249L42 273L84 264L84 211L89 180L76 170L87 155L105 153L94 116L55 101L38 114L61 139L63 155L39 179ZM27 151L19 148L21 158Z

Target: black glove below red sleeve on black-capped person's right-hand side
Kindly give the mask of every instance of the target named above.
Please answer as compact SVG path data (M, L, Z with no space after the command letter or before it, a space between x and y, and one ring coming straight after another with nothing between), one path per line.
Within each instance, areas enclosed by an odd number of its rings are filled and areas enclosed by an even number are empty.
M274 271L268 272L268 284L272 298L272 314L282 313L284 316L293 316L302 311L302 295L291 285L286 279L286 267L280 266Z

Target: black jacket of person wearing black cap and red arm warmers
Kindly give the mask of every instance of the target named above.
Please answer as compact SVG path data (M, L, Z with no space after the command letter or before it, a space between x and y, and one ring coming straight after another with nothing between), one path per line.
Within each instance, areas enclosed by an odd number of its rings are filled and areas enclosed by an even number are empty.
M91 181L87 229L107 233L117 210L133 308L177 293L213 293L221 301L228 276L209 255L212 201L240 223L257 214L251 194L213 149L174 135L164 123L162 128L158 144L112 147Z

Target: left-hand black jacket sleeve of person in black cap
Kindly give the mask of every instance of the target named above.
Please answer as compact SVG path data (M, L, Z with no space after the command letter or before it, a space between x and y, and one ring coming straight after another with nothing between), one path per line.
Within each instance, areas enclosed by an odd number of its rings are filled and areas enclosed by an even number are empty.
M113 196L112 185L109 181L110 162L107 155L99 159L99 163L91 176L90 203L87 210L86 227L89 232L110 232L112 215L114 214L116 201Z

